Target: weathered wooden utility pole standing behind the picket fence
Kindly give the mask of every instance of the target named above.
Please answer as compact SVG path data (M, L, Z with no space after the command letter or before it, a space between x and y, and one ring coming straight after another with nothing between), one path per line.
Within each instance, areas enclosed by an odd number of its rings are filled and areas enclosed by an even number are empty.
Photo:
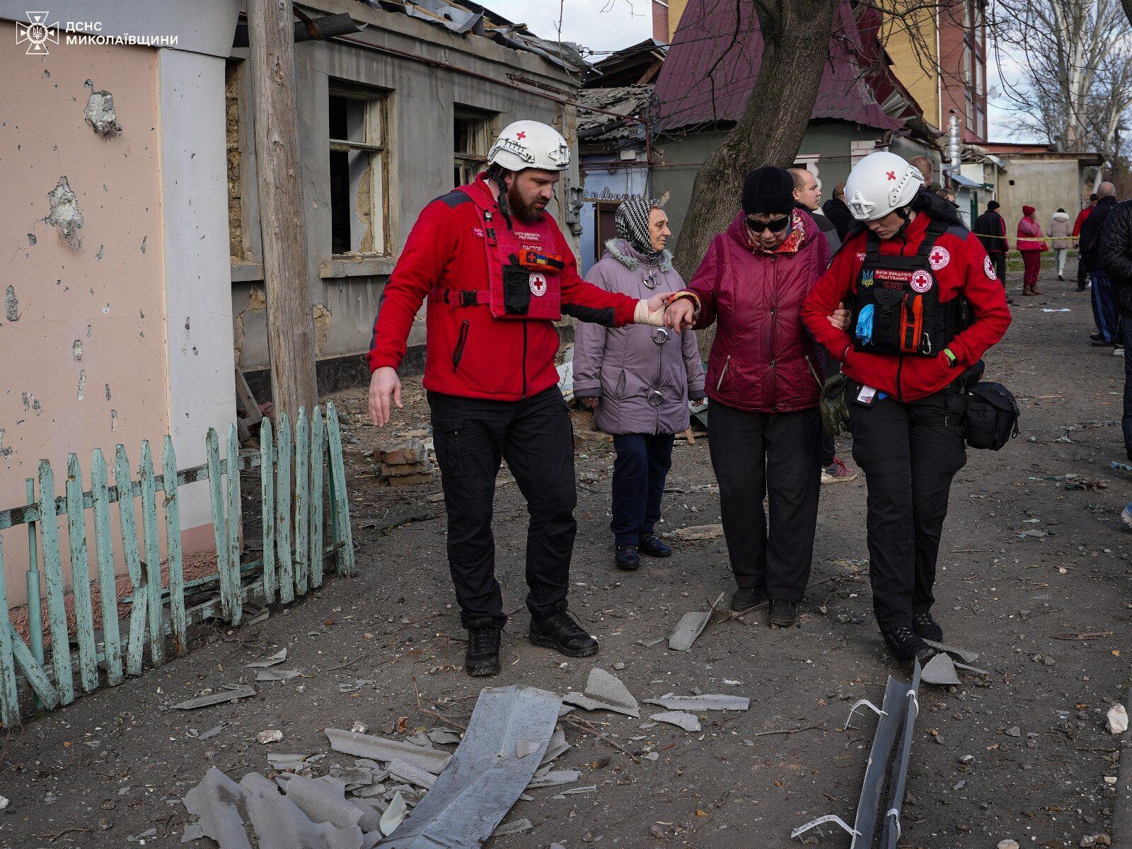
M291 0L248 0L267 350L276 412L295 420L318 403L315 323L307 280Z

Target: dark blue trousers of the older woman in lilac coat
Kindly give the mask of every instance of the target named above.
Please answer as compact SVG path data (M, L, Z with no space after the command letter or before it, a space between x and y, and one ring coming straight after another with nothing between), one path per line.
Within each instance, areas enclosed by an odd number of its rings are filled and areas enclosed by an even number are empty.
M672 434L617 434L614 448L615 544L635 546L642 533L652 533L660 521L664 479L672 466Z

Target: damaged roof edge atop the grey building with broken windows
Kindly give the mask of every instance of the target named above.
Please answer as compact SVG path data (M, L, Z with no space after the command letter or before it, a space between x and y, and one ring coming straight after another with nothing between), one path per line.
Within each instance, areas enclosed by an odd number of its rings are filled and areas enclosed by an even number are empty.
M443 26L457 35L480 35L512 48L535 53L572 74L589 70L582 49L573 42L548 41L471 0L358 0L375 9L402 12L411 18Z

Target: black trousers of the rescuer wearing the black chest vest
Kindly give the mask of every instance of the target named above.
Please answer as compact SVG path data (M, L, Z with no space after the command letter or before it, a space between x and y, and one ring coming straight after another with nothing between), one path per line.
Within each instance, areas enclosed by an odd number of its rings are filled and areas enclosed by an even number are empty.
M868 481L868 576L882 631L911 626L935 601L935 561L955 472L967 463L963 395L946 388L920 401L856 402L846 389L854 460ZM851 392L851 394L850 394Z

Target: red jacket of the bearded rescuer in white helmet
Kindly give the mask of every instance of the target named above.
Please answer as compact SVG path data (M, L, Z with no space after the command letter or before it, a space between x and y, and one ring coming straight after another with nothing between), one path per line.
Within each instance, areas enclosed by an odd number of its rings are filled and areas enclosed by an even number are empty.
M482 174L472 187L491 198ZM503 222L494 199L492 212ZM558 254L566 261L559 272L563 312L610 327L632 323L637 302L583 281L569 245L557 225L554 230ZM475 204L462 191L437 198L417 218L381 294L369 346L370 371L401 365L413 318L435 286L488 289L483 230ZM558 383L558 332L552 321L496 319L487 306L452 307L429 298L426 329L426 389L518 401Z

